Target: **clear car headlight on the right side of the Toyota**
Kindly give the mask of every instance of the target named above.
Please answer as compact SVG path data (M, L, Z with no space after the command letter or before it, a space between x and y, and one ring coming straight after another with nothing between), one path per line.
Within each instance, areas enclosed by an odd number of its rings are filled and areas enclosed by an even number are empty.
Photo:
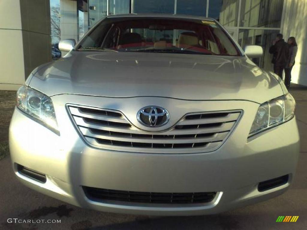
M294 117L295 100L291 94L275 98L259 106L249 136L280 125Z

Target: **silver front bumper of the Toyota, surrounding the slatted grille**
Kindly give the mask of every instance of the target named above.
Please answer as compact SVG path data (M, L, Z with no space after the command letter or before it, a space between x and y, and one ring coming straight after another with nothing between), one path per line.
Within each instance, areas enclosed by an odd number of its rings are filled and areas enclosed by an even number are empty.
M134 111L133 107L147 105L148 98L59 95L52 97L52 100L60 136L15 109L10 125L11 159L15 174L24 184L73 205L117 213L212 214L280 195L286 191L295 174L299 156L295 119L247 139L259 106L253 102L187 102L150 98L151 103L166 107L169 111L180 108L183 114L186 111L199 111L200 107L206 108L206 111L243 109L244 114L231 136L216 151L149 154L87 146L65 109L66 103L91 105L121 109L129 116L129 111ZM20 174L17 164L46 174L46 183ZM286 184L264 192L258 191L259 182L286 174L289 174ZM189 205L98 202L88 199L81 186L161 193L216 191L217 195L212 202Z

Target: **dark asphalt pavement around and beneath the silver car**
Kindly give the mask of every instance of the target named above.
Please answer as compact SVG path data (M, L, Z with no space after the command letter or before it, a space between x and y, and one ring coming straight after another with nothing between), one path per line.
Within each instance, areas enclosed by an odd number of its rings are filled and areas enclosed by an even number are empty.
M10 157L0 160L0 229L307 229L307 87L290 90L297 102L301 148L293 185L274 199L218 215L153 217L81 209L23 186L13 173ZM0 143L7 141L14 92L0 91ZM1 158L0 158L1 159ZM276 223L278 216L299 216L295 223ZM19 220L60 220L60 223L8 223Z

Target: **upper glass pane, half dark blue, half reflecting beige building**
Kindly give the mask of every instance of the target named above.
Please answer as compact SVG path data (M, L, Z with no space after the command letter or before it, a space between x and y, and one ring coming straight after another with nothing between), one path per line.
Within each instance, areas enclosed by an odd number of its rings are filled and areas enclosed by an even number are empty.
M217 17L218 11L220 11L219 21L223 26L238 25L239 0L210 0L209 17Z

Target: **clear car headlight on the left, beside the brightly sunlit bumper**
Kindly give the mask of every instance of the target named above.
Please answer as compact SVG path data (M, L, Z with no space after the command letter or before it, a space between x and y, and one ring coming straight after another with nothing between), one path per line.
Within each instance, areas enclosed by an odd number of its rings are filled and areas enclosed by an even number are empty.
M36 118L42 125L59 134L51 98L30 87L21 86L17 91L16 104L23 112Z

